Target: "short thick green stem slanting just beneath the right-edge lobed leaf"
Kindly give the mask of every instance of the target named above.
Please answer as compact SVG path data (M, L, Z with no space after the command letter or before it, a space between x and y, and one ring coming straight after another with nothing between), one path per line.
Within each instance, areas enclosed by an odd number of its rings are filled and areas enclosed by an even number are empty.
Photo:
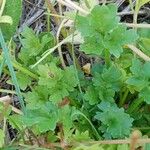
M143 102L142 98L138 98L138 99L134 100L134 102L129 106L127 112L129 114L133 113L135 110L138 109L138 107L141 105L142 102Z

